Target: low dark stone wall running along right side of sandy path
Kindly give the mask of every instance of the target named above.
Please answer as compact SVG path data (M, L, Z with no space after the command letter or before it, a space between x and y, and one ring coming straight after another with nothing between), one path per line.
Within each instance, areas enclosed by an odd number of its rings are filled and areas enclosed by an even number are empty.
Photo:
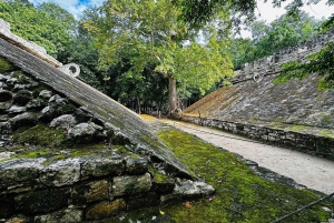
M175 114L174 119L216 128L234 134L247 136L266 144L288 148L301 152L310 153L334 160L334 139L306 134L296 131L286 131L265 125L254 125L247 123L229 122L218 119L199 118L190 115Z

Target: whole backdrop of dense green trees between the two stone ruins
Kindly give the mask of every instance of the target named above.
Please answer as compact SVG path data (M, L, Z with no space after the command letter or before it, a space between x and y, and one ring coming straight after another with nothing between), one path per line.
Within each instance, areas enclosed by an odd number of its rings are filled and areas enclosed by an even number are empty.
M0 1L0 18L60 62L78 63L87 83L137 112L184 108L228 84L233 68L308 39L322 23L304 12L299 20L256 21L255 1L205 2L109 0L76 20L51 2L12 0ZM245 18L252 39L233 36Z

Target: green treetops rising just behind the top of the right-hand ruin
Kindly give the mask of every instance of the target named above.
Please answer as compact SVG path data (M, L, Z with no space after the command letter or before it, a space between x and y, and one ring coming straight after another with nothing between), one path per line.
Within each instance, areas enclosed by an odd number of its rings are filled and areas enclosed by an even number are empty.
M252 40L237 38L229 47L236 69L244 63L252 62L278 50L305 41L318 33L322 21L299 12L299 18L284 14L272 23L255 21L250 26Z

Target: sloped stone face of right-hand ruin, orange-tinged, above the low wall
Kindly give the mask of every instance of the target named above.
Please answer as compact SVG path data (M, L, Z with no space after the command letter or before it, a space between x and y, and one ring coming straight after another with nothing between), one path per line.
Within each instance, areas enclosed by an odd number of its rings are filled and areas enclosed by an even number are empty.
M184 114L214 118L222 121L272 125L275 123L313 128L334 128L334 90L318 91L320 77L273 84L279 64L305 60L326 42L334 40L334 29L312 40L286 48L236 72L232 87L220 88L191 104ZM254 78L254 75L256 75Z

